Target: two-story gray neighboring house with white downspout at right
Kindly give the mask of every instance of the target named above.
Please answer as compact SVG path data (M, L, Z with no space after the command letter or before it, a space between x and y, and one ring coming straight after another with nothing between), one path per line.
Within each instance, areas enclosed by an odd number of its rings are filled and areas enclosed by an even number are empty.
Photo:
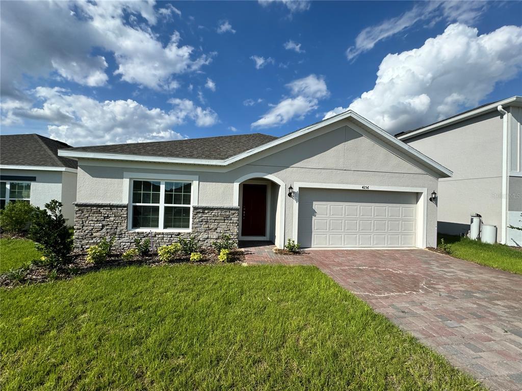
M453 171L438 184L438 231L469 231L470 215L497 226L497 240L522 244L522 97L488 103L396 137Z

